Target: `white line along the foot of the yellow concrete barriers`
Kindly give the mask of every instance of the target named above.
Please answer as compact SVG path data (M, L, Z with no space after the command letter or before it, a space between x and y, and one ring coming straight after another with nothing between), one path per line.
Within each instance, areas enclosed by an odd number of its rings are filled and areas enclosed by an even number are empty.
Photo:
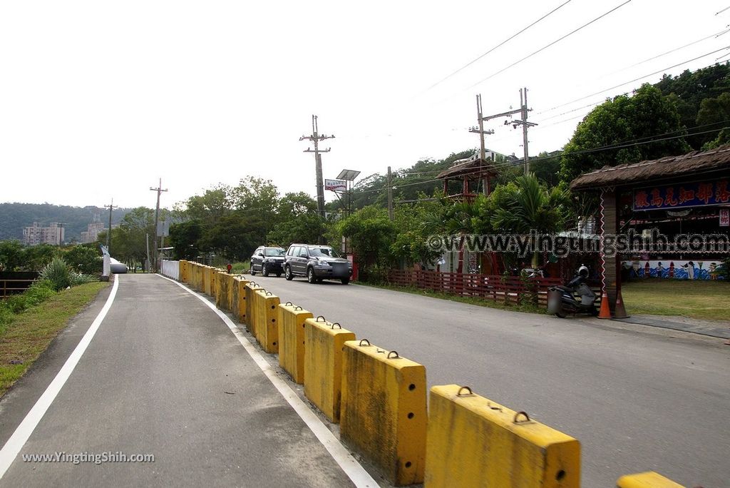
M264 359L263 356L261 356L261 353L259 353L256 348L249 342L249 340L246 338L245 335L239 330L236 324L231 319L228 319L228 316L226 316L225 313L218 310L218 308L215 307L215 303L209 302L204 296L201 294L196 293L195 291L189 289L182 283L178 283L177 281L171 280L170 278L167 278L163 275L158 275L161 278L165 278L167 281L172 281L172 283L175 283L177 286L180 286L185 291L188 291L189 294L193 295L193 297L198 297L201 302L203 302L205 305L207 305L211 310L213 310L215 313L218 314L221 320L228 326L228 329L231 329L231 332L233 332L233 335L236 336L239 343L246 349L246 352L249 354L251 359L258 365L259 368L261 368L261 371L264 372L266 375L266 378L269 378L269 381L272 382L274 387L279 390L280 394L285 398L285 400L291 405L291 408L296 411L297 414L299 414L299 417L304 421L305 424L307 424L307 427L312 430L312 433L315 435L316 438L322 443L322 445L327 449L331 457L337 462L340 468L342 468L343 471L345 471L345 474L350 478L350 481L355 484L358 488L375 488L380 485L377 484L377 481L375 481L372 476L369 475L369 473L363 468L360 463L350 454L350 452L345 449L345 446L342 446L342 443L339 442L339 439L334 436L334 434L326 427L325 424L318 418L318 416L315 415L312 410L307 407L307 405L304 404L303 401L301 401L301 398L291 389L291 386L286 384L286 382L279 378L277 373L274 371L274 369L269 365L268 362L266 362L266 359Z

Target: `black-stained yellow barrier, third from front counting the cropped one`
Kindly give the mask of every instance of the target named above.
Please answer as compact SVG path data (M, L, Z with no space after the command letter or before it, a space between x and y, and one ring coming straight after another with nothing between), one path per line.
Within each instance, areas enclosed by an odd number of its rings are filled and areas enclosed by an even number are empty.
M339 435L347 445L392 484L421 483L426 420L426 367L366 339L345 343Z

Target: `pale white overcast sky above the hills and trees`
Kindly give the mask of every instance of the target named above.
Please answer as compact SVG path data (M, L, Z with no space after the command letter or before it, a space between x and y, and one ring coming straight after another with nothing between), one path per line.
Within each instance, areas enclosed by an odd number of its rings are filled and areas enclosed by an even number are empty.
M558 150L607 97L730 59L730 33L712 35L728 28L728 7L4 1L0 202L154 207L161 178L161 204L172 207L248 175L315 196L311 146L299 141L312 115L335 136L320 145L331 148L324 178L364 178L477 148L475 96L484 115L503 113L520 106L523 87L539 124L529 153ZM486 145L521 157L521 129L504 120L485 123L495 131Z

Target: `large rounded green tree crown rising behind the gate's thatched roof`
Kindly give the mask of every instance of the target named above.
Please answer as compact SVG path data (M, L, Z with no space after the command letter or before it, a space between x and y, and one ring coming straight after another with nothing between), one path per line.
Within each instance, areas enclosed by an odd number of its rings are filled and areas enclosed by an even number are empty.
M561 180L569 183L593 169L690 150L682 138L663 140L661 136L667 133L682 134L683 126L677 107L657 88L645 84L633 96L617 96L593 109L578 124L564 148Z

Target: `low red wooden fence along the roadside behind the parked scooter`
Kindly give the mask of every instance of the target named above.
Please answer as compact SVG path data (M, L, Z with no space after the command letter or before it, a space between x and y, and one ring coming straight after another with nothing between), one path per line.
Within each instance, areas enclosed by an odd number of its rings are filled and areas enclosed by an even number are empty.
M388 281L398 286L440 291L461 297L478 297L507 304L548 305L548 288L562 284L560 278L472 275L458 272L391 270Z

